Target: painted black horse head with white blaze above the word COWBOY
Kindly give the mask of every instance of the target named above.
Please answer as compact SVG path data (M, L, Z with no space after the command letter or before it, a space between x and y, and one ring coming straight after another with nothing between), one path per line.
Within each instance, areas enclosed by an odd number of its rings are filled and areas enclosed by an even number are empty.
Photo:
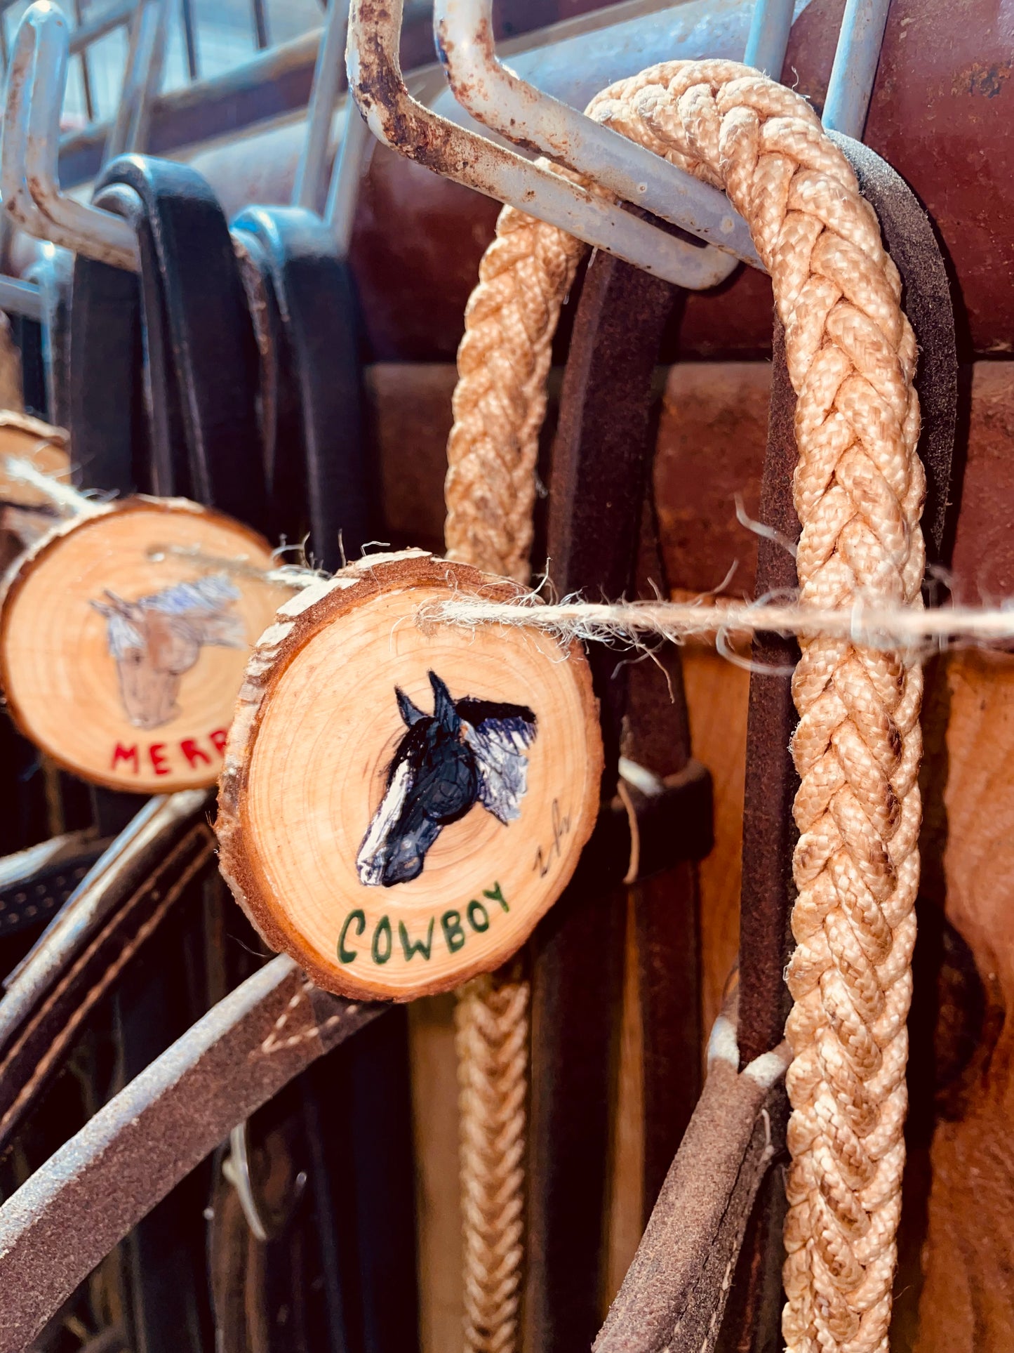
M408 731L356 858L361 884L391 888L416 878L441 829L475 804L504 825L521 815L535 716L526 705L456 701L435 672L429 675L431 714L395 687Z

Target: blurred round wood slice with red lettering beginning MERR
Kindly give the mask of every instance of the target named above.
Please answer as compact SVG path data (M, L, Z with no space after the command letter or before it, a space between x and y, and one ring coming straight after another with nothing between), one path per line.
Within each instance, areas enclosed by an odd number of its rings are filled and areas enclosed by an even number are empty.
M204 560L158 547L196 549ZM250 647L289 589L265 540L185 499L130 498L61 522L11 568L0 681L59 766L137 793L214 785Z

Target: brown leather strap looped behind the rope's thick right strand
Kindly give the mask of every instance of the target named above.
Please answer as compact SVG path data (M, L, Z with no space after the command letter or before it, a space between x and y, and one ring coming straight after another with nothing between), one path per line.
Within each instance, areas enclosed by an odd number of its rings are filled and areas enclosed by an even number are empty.
M880 216L886 244L902 272L906 311L921 353L919 449L929 479L927 502L944 505L952 498L957 365L946 273L933 227L888 165L848 138L836 141L857 168L860 185ZM794 413L784 342L776 325L761 520L790 538L799 530L791 501L796 460ZM927 538L932 549L946 544L946 521L937 507L927 517ZM761 540L757 593L795 586L795 580L791 555ZM754 643L754 659L765 664L792 662L794 656L795 645L777 636L758 636ZM727 1030L723 1034L719 1028L718 1042L727 1066L718 1069L721 1080L714 1085L714 1066L708 1074L634 1264L595 1345L596 1353L661 1353L683 1346L706 1353L715 1346L719 1331L725 1346L748 1353L772 1348L779 1338L784 1189L776 1172L768 1181L763 1176L781 1149L787 1105L775 1089L767 1105L761 1104L748 1078L752 1069L769 1066L768 1059L780 1058L784 1051L779 1040L788 1005L781 973L792 901L790 812L795 771L788 737L794 727L788 676L752 675L738 1046L737 1039L729 1039ZM742 1068L738 1076L737 1065ZM756 1074L753 1080L757 1081ZM767 1074L763 1080L773 1086ZM761 1108L768 1112L764 1149L756 1116ZM730 1287L734 1299L723 1322Z

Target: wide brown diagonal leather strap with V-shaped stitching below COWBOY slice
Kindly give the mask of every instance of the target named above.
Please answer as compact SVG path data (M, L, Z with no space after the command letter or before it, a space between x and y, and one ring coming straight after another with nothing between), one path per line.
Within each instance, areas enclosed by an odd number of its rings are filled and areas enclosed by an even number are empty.
M318 992L281 955L145 1068L0 1208L0 1353L27 1348L237 1123L385 1009Z

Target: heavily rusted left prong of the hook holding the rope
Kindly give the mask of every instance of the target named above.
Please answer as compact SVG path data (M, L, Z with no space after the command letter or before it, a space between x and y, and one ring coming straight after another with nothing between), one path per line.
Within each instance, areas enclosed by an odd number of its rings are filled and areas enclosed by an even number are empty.
M349 18L349 88L379 141L445 179L512 203L585 244L625 258L681 287L714 285L714 254L622 207L584 192L549 169L454 126L414 99L402 77L397 49L402 0L372 5L353 0ZM729 204L725 214L730 215ZM696 271L695 271L696 269Z

